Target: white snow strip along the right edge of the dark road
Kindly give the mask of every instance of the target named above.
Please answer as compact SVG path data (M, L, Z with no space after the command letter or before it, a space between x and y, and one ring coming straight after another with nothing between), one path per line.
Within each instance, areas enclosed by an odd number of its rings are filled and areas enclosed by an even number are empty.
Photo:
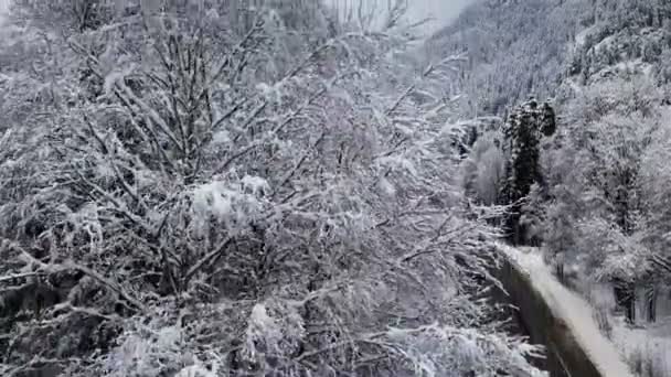
M622 359L622 354L599 331L592 305L556 280L539 250L515 249L505 245L501 245L501 249L529 274L534 287L555 311L555 315L565 320L603 376L633 376Z

